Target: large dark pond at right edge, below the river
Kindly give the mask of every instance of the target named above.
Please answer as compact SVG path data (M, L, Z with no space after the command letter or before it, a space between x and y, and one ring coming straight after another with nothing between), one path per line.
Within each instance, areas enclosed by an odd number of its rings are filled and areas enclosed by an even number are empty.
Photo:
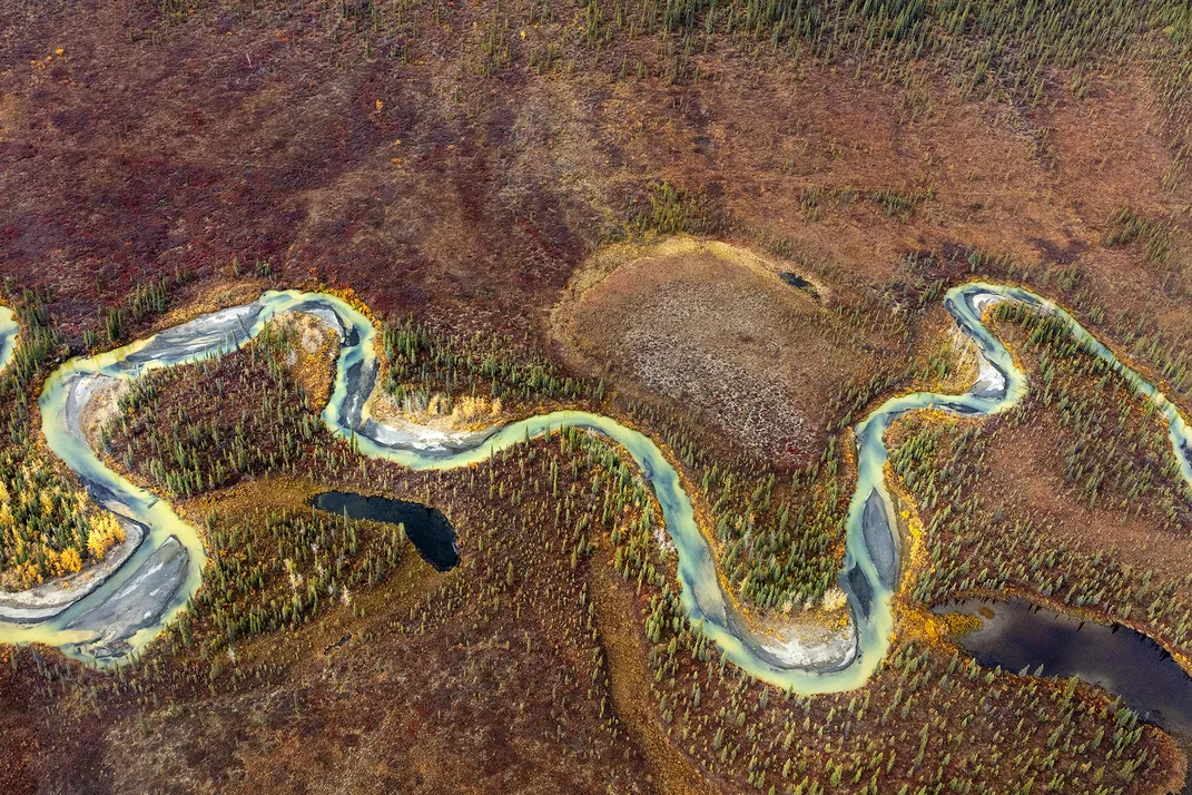
M951 602L936 613L980 616L981 628L956 641L982 665L1014 672L1030 667L1030 673L1042 665L1043 676L1075 676L1122 696L1144 721L1175 735L1185 750L1192 746L1192 679L1146 635L1018 600Z

